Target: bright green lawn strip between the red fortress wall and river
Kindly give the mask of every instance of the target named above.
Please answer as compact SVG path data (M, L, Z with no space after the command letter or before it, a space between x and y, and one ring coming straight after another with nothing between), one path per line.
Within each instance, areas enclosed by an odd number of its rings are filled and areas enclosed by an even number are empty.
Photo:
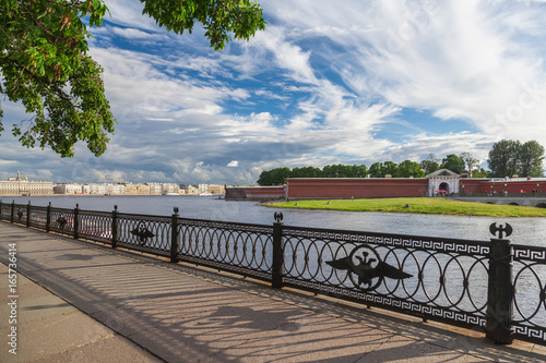
M407 207L404 208L406 205ZM278 208L416 213L452 216L546 217L546 208L456 202L441 197L295 201L271 203L268 206Z

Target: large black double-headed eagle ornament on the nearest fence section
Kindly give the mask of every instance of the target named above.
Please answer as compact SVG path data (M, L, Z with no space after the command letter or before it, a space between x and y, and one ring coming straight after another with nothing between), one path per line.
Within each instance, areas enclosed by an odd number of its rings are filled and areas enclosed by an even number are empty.
M356 252L361 249L370 250L376 258L368 258L368 251L361 252L361 256L357 255ZM358 263L355 264L353 258L356 258ZM335 269L347 270L351 281L353 281L355 287L359 288L363 283L368 286L367 288L363 288L365 291L377 289L385 277L397 280L413 277L413 275L406 274L383 262L375 250L366 245L355 247L346 257L327 261L325 263ZM355 281L353 274L358 277L357 281ZM378 280L373 283L373 279L376 278Z

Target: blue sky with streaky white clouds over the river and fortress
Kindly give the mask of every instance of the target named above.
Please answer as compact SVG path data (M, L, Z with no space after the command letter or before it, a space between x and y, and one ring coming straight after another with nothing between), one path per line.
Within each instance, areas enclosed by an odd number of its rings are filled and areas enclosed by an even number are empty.
M99 158L27 149L0 99L0 180L251 184L262 170L546 145L545 1L262 1L268 25L214 51L139 0L93 28L118 124Z

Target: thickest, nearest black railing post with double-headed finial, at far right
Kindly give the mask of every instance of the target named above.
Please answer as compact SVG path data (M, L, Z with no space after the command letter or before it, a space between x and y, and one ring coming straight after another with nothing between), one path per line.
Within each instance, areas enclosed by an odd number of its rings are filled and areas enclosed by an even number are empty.
M509 237L512 227L489 227L498 239L491 239L489 251L489 283L487 293L487 327L486 337L497 344L510 344L513 340L513 285L512 285L512 247L510 240L502 239L502 233Z

